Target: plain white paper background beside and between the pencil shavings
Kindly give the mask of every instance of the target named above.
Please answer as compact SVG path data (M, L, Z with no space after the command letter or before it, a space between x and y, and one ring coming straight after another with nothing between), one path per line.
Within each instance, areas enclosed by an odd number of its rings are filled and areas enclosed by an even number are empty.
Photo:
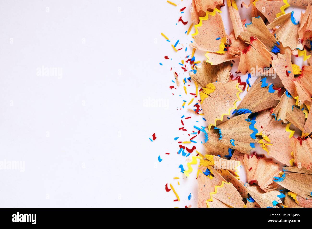
M193 126L205 123L187 111L195 100L181 107L193 98L183 85L169 88L176 86L173 71L180 83L188 78L178 62L192 53L191 35L185 34L191 1L174 2L180 4L0 1L0 161L25 162L24 172L0 170L1 207L197 205L196 165L189 178L180 172L187 158L177 154L177 141L188 141ZM250 10L237 5L249 23ZM221 11L230 34L227 6ZM187 25L178 23L181 16ZM183 50L175 53L171 44L178 39ZM205 60L203 54L196 51L196 60ZM62 77L38 76L41 66L61 68ZM194 93L190 84L188 93ZM183 119L188 131L178 130L183 115L192 116ZM202 134L194 140L204 154ZM166 183L180 202L173 202Z

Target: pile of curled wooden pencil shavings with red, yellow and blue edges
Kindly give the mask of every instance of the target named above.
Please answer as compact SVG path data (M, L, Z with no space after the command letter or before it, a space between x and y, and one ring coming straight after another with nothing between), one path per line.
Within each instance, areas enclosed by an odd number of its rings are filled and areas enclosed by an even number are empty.
M293 12L285 13L288 3L306 8L300 23ZM197 25L191 46L207 51L207 61L190 73L202 87L208 133L197 176L198 207L312 207L312 67L300 69L291 62L292 55L304 56L312 64L307 55L312 52L312 7L310 1L288 3L251 0L244 5L252 7L247 24L235 0L227 0L234 29L227 35L222 1L193 0L192 20ZM231 74L235 58L237 73L249 73L246 83ZM268 83L272 74L277 75L274 85ZM251 77L257 78L253 85ZM270 158L258 155L256 147ZM236 174L238 165L245 167L245 184Z

